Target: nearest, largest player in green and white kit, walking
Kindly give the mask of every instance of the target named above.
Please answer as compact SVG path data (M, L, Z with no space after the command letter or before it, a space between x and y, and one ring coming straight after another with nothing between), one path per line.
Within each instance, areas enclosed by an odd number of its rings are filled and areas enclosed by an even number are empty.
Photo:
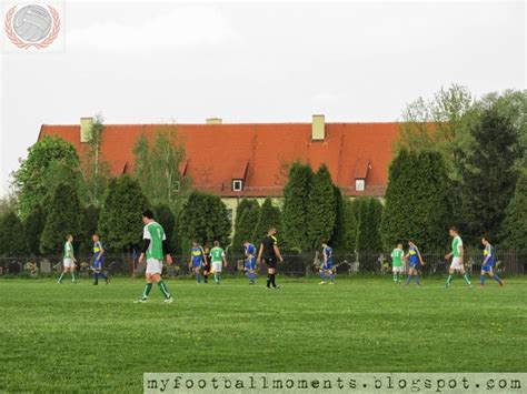
M167 285L162 281L162 260L163 256L167 259L167 264L172 265L172 256L168 251L167 236L161 224L153 220L153 213L150 210L142 212L142 222L145 223L145 230L142 233L143 244L141 255L139 256L139 264L142 264L145 256L147 259L147 271L146 280L147 284L142 293L139 303L145 303L148 300L150 291L152 290L152 282L158 284L159 290L165 296L163 303L171 303L173 301Z

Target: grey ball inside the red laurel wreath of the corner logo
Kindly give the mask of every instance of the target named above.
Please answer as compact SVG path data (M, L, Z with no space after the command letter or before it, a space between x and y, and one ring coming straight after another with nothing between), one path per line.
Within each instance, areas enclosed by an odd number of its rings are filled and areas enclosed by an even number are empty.
M51 14L40 6L26 6L14 14L13 29L24 41L38 42L51 30Z

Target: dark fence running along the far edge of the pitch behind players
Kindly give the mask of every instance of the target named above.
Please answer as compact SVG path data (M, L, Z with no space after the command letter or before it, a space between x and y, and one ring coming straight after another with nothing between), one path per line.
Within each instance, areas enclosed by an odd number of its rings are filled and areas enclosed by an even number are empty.
M449 262L444 259L443 253L422 254L425 265L424 274L445 274ZM285 262L278 265L278 272L291 276L309 276L318 273L321 263L321 254L302 253L285 254ZM81 275L90 274L91 256L81 255L78 259L77 272ZM190 274L188 256L175 256L173 265L167 267L170 276L185 276ZM226 274L242 274L243 255L227 255L228 265L223 269ZM479 251L469 252L465 255L465 267L470 273L479 272L483 256ZM507 275L523 275L527 272L527 251L521 252L497 252L496 271ZM337 274L355 275L388 274L391 272L391 259L389 253L334 253L334 266ZM142 275L145 264L138 264L136 259L126 254L109 254L103 264L105 271L112 274ZM260 264L260 272L266 267ZM62 260L53 257L0 257L0 275L26 274L26 275L50 275L62 271Z

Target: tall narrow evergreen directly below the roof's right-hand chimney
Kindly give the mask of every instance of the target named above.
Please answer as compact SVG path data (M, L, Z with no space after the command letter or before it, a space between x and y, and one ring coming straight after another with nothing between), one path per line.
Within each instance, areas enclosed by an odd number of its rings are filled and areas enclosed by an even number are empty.
M321 164L312 178L307 205L307 235L309 249L320 247L320 242L329 241L335 228L335 190L326 164Z

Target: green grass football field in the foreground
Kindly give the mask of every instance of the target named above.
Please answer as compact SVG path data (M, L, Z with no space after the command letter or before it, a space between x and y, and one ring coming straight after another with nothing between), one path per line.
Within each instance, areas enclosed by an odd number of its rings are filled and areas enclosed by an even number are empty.
M527 279L0 280L0 392L141 392L143 372L525 372ZM475 280L477 280L475 277Z

